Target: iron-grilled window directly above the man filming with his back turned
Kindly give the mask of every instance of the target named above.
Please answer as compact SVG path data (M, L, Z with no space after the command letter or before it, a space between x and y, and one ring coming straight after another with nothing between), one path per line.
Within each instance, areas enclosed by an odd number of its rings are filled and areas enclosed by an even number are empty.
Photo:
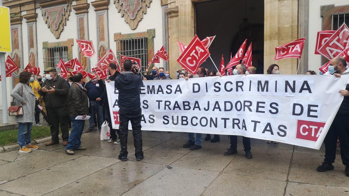
M141 59L141 70L144 73L148 65L148 40L146 37L118 39L116 42L117 58L120 62L120 54Z

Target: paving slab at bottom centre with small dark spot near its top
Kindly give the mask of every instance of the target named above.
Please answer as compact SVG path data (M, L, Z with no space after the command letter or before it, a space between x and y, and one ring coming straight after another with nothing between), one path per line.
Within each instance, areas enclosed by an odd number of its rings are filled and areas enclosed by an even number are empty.
M124 195L201 195L218 172L168 166Z

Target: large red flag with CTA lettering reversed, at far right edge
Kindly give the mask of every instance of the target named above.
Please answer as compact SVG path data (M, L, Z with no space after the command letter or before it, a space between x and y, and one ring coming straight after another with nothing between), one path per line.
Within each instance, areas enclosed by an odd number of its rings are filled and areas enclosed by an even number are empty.
M333 59L341 53L347 46L349 39L349 29L345 23L343 23L327 41L320 46L318 52L325 56L327 59Z

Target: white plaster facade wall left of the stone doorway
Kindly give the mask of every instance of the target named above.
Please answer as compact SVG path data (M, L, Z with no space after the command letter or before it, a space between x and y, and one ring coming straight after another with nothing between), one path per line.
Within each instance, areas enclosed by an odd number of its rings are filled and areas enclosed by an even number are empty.
M94 0L89 0L90 3ZM75 5L76 2L73 1L72 5ZM89 33L89 39L92 40L94 44L94 48L96 53L98 52L98 45L97 45L97 30L96 30L96 12L94 11L94 7L90 5L89 12L88 12L88 33ZM56 39L53 35L53 33L50 31L49 28L47 28L47 24L45 24L45 21L43 20L43 16L41 13L41 10L38 8L36 9L36 13L38 14L37 22L36 22L36 28L37 28L37 61L38 65L40 67L40 74L43 74L44 70L44 64L43 64L43 42L61 42L65 41L70 38L74 38L74 45L73 45L73 58L78 56L78 46L76 44L75 39L77 38L77 21L76 21L76 14L75 10L72 9L70 12L69 20L67 21L67 25L64 26L64 30L61 33L61 36L59 39ZM22 15L25 14L25 11L22 12ZM134 32L143 32L147 31L147 29L155 29L155 37L154 37L154 51L156 52L160 47L163 45L163 38L162 38L162 8L159 0L155 0L150 3L150 7L147 8L147 14L143 14L142 21L139 22L138 27L135 30L132 30L129 25L125 22L124 17L121 17L121 14L118 13L117 8L113 1L110 1L109 4L109 10L108 10L108 22L109 22L109 46L113 50L113 52L116 52L116 42L114 41L114 33L121 32L124 33L134 33ZM29 49L28 49L28 29L27 29L27 23L26 20L23 18L22 21L22 37L23 37L23 57L22 61L24 64L24 67L27 66L29 62ZM97 63L98 55L96 54L91 58L91 63ZM163 61L159 63L158 66L163 66ZM10 103L9 94L12 91L12 78L7 78L7 100L8 104ZM2 97L0 96L0 108L2 107L1 103ZM7 108L6 108L7 110ZM2 121L2 119L1 119Z

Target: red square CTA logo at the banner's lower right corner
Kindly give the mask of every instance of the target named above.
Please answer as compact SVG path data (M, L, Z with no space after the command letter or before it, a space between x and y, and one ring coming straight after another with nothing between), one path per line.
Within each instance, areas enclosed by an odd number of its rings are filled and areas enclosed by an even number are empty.
M320 136L325 122L297 120L296 139L316 142Z

